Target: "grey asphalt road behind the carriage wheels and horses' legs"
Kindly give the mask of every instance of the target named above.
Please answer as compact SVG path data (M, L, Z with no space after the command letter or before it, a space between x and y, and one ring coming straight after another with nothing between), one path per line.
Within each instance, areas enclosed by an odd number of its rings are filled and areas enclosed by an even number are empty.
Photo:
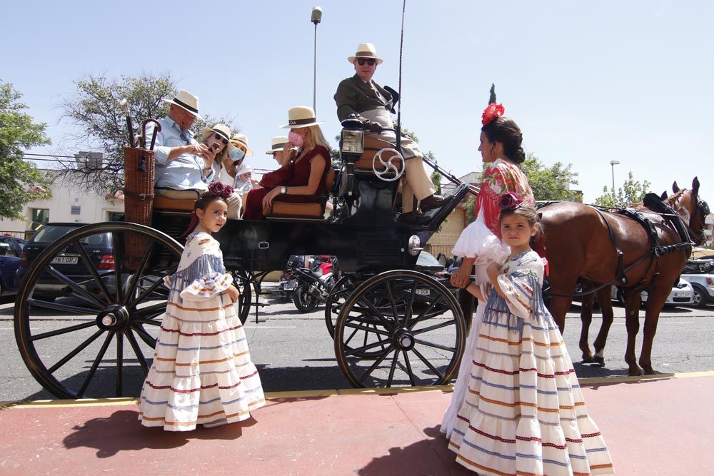
M14 338L13 305L14 298L0 299L0 353L5 363L0 385L0 401L36 400L54 398L32 378L24 365ZM323 307L309 314L299 313L289 301L283 301L276 293L261 296L261 302L268 304L259 310L258 323L253 312L245 325L246 335L253 362L261 374L266 391L317 390L349 388L336 363L333 343L324 323ZM605 349L605 367L580 363L578 338L580 333L579 308L573 305L568 313L565 327L565 342L575 363L578 376L609 377L627 374L624 361L625 322L623 308L615 305L615 323L610 330L608 346ZM644 311L640 312L640 323ZM51 325L48 319L48 325ZM600 315L595 311L590 328L590 343L593 342L600 326ZM638 336L637 353L640 343ZM56 340L56 339L55 339ZM704 310L694 308L665 307L660 314L658 334L653 348L653 366L662 373L680 373L714 370L714 306ZM47 350L65 353L61 341L54 344L58 348ZM64 355L64 354L63 354ZM69 372L77 374L86 371L89 360L72 363ZM69 364L68 364L69 365ZM138 367L136 367L139 370ZM108 370L107 373L111 373ZM106 381L111 382L107 375ZM129 390L139 388L141 373L128 378ZM101 383L101 378L99 382Z

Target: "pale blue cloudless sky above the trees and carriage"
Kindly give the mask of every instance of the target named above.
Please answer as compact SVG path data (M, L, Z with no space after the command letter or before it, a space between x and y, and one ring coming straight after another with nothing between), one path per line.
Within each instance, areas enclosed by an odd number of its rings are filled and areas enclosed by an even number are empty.
M360 43L398 88L401 0L16 1L4 5L0 79L13 83L55 152L74 126L59 103L74 81L168 71L201 112L235 118L256 156L283 135L292 106L313 103L313 6L318 120L340 131L333 94ZM402 124L456 176L481 170L476 151L491 83L546 166L572 163L586 203L632 171L657 193L672 182L714 201L714 4L690 0L407 0ZM8 21L12 19L12 21ZM538 198L538 197L536 197Z

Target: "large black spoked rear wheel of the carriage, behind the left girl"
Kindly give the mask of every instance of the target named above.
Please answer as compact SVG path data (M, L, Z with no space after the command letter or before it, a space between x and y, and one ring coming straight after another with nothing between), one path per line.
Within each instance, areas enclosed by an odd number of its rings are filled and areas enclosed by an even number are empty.
M111 243L101 262L91 243ZM60 398L139 395L183 247L134 223L96 223L51 243L15 302L32 376ZM112 260L113 258L113 260Z

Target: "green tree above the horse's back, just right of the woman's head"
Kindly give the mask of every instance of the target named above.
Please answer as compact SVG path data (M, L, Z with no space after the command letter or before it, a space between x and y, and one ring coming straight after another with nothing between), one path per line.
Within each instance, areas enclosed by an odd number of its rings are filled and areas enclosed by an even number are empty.
M578 173L573 172L572 163L565 166L562 162L555 162L546 167L538 156L529 153L526 161L521 163L521 170L528 177L535 200L572 201L575 198L570 185L578 185Z

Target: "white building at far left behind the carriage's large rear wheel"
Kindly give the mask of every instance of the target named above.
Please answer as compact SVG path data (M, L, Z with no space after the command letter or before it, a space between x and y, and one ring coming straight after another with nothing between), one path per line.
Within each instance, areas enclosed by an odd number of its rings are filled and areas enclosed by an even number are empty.
M51 173L51 171L43 171ZM124 219L124 196L101 196L79 188L70 181L58 179L52 187L52 198L26 203L24 221L0 219L0 235L9 233L22 237L48 222L98 223ZM26 233L30 232L30 233Z

